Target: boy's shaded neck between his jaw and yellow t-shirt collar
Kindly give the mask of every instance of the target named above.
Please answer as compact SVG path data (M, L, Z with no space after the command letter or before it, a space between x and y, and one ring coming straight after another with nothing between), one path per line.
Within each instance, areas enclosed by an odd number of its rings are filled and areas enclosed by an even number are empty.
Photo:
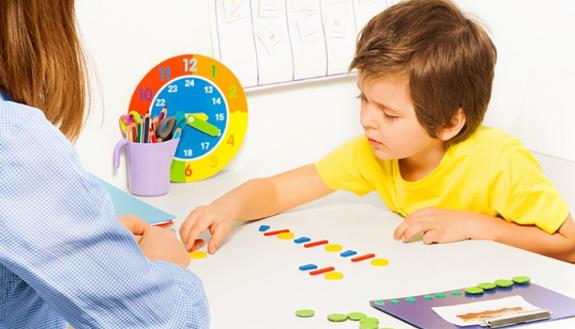
M408 182L425 178L439 166L446 151L447 148L440 142L409 158L399 159L401 177Z

